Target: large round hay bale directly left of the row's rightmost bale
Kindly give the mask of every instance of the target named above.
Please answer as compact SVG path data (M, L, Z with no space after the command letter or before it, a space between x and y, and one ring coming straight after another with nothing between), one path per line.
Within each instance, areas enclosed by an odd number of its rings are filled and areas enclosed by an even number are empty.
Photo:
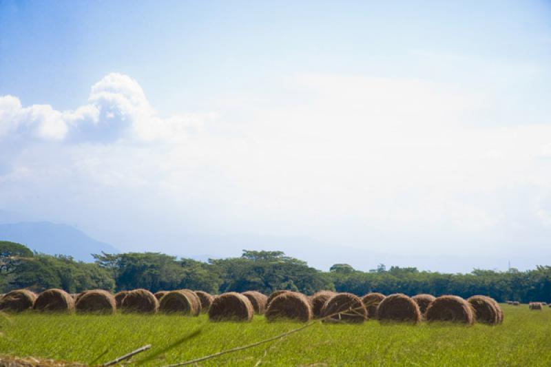
M470 303L457 295L442 295L428 306L427 321L449 321L472 325L475 313Z

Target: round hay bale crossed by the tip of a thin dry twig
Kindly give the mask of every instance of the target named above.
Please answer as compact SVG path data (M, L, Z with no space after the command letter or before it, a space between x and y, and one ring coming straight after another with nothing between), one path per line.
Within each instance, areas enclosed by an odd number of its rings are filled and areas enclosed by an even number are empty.
M328 322L362 323L367 319L367 309L362 299L352 293L337 293L322 307L321 317Z

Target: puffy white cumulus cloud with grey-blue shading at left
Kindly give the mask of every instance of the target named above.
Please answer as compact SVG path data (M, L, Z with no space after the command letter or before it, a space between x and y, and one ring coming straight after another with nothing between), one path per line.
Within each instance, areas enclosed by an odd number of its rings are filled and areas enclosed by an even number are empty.
M51 105L23 107L17 97L0 96L0 139L181 141L213 118L216 114L160 117L138 82L118 73L92 85L87 104L69 111L57 111Z

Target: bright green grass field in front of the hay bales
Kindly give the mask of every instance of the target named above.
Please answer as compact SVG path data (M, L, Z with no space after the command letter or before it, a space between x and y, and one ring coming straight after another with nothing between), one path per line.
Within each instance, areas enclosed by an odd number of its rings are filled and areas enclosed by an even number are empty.
M551 366L551 309L503 305L500 326L476 324L314 324L298 333L198 366ZM134 360L200 333L145 365L162 366L260 341L298 328L293 322L211 323L200 317L40 315L1 319L0 355L103 363L145 344Z

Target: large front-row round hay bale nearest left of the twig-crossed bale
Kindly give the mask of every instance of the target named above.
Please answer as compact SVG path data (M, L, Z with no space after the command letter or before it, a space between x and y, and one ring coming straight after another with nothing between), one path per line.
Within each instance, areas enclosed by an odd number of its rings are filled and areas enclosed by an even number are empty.
M268 321L293 319L308 322L313 317L308 297L298 292L284 292L274 297L264 315Z

